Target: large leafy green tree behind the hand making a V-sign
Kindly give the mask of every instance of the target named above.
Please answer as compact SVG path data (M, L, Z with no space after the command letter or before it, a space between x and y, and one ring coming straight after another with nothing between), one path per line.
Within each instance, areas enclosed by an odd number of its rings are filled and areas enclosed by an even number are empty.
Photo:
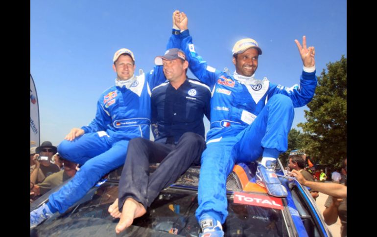
M347 157L347 58L327 64L318 77L315 95L305 110L306 152L322 164L340 166Z

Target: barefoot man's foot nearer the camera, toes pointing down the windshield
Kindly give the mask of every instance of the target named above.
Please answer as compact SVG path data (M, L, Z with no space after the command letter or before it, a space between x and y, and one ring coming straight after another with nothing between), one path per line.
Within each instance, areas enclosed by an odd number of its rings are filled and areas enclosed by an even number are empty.
M127 198L123 205L119 223L115 227L115 232L119 234L124 231L127 227L132 225L135 218L138 218L145 213L146 210L140 202L137 202L131 197Z

